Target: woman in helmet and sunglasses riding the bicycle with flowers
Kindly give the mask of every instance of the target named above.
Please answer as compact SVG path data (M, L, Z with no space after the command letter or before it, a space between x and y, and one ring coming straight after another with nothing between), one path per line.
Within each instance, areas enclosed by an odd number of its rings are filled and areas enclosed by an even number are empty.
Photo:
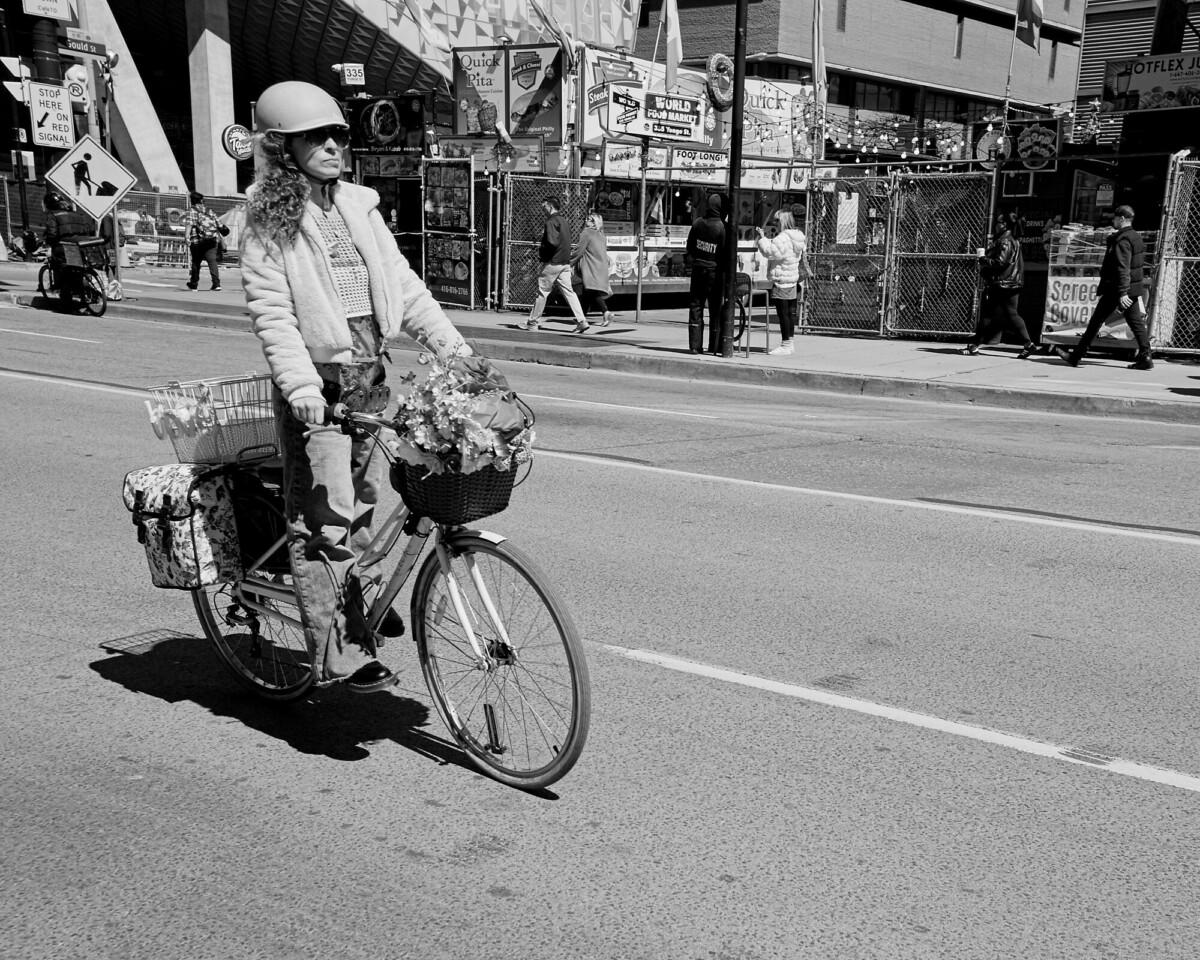
M440 356L470 355L462 335L401 256L379 194L343 182L348 125L308 83L269 86L256 107L263 166L248 191L241 274L275 380L289 557L317 682L373 692L395 683L362 616L378 572L358 557L386 467L373 437L305 436L325 408L379 412L383 358L401 332ZM390 611L380 632L403 624Z

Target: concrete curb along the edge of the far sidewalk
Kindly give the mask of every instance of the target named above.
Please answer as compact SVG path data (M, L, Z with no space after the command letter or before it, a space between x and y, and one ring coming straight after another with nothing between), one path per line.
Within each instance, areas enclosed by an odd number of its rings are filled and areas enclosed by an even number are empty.
M56 302L28 293L10 293L4 296L12 304L24 307L44 308ZM43 300L47 302L43 304ZM198 313L181 310L163 310L161 307L138 307L126 305L124 301L110 304L106 316L109 314L120 319L176 323L190 326L251 332L250 318L245 314ZM557 347L544 343L488 340L486 336L469 335L466 336L466 340L473 347L479 344L478 352L492 360L520 364L544 364L546 366L632 373L643 377L736 383L748 386L775 386L842 396L876 397L880 400L912 400L923 403L1036 410L1070 416L1120 416L1136 420L1154 420L1165 424L1200 425L1200 404L1195 403L1080 396L1074 394L1013 390L1002 386L913 380L902 377L868 377L854 373L749 366L742 365L737 360L713 356L643 356L617 350L612 347L584 349L581 347ZM421 347L415 341L397 341L389 346L392 349L412 353L421 350Z

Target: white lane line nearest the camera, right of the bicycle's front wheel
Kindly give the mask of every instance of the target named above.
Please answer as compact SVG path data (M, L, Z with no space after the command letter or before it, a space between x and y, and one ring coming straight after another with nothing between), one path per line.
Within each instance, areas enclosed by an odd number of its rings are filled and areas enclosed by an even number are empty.
M755 690L767 690L772 694L781 694L797 700L806 700L811 703L821 703L826 707L836 707L842 710L878 716L882 720L890 720L895 724L907 724L908 726L935 730L940 733L949 733L955 737L966 737L979 743L1003 746L1008 750L1016 750L1022 754L1033 754L1039 757L1057 760L1063 763L1074 763L1080 767L1092 767L1100 770L1110 770L1122 776L1132 776L1136 780L1146 780L1152 784L1163 784L1169 787L1189 790L1200 793L1200 776L1190 776L1177 770L1164 770L1158 767L1148 767L1145 763L1134 763L1127 760L1109 757L1096 757L1094 760L1081 760L1086 752L1075 751L1068 746L1056 746L1052 743L1031 740L1027 737L1018 737L1013 733L1001 733L986 727L976 727L970 724L960 724L956 720L943 720L940 716L930 716L923 713L904 710L899 707L886 707L882 703L872 703L869 700L856 700L854 697L830 694L828 690L814 690L809 686L797 686L796 684L768 680L763 677L755 677L749 673L738 673L722 667L698 664L694 660L682 660L677 656L654 653L652 650L634 650L629 647L616 647L611 643L601 644L610 653L624 656L629 660L637 660L642 664L674 670L680 673L691 673L697 677L708 677L714 680L724 680L740 686L750 686Z

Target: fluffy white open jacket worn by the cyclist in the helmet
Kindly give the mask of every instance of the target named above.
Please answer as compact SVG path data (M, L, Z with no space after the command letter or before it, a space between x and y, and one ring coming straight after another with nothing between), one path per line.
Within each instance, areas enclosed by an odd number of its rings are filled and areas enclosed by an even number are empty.
M251 187L253 190L253 187ZM401 331L439 355L470 354L462 335L401 256L376 209L370 187L340 182L334 205L367 266L371 302L388 340ZM254 334L262 341L271 377L290 403L320 397L314 362L344 364L352 358L332 268L312 212L305 210L292 241L275 242L250 228L241 246L241 283Z

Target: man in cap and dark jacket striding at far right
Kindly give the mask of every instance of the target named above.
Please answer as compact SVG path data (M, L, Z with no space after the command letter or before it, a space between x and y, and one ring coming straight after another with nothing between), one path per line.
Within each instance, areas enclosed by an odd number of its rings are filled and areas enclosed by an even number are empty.
M1109 236L1104 263L1100 264L1100 283L1096 288L1100 300L1092 311L1092 319L1087 322L1087 329L1073 350L1055 347L1054 352L1064 362L1078 367L1100 328L1123 314L1138 341L1138 356L1129 365L1130 370L1152 370L1154 362L1150 359L1150 330L1146 326L1146 306L1142 300L1146 287L1142 270L1146 244L1133 228L1132 206L1118 206L1112 212L1112 226L1116 227L1116 233Z

